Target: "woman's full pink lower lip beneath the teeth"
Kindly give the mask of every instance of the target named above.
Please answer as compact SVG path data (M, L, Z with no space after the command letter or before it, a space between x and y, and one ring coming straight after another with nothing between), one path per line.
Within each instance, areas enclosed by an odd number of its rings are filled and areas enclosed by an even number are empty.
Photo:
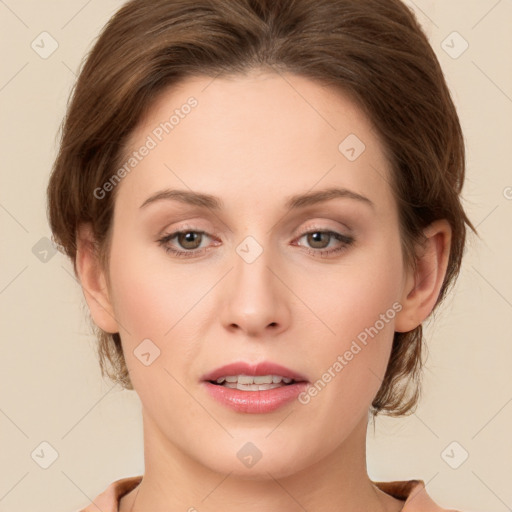
M263 391L241 391L204 382L206 390L218 402L237 412L263 414L275 411L295 400L308 386L307 382L297 382L280 388Z

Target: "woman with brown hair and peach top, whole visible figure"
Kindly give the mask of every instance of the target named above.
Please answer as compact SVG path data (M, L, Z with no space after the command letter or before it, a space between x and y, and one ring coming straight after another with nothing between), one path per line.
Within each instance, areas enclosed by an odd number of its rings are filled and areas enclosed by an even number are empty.
M134 0L48 189L144 475L84 510L442 510L366 470L458 275L464 143L398 0Z

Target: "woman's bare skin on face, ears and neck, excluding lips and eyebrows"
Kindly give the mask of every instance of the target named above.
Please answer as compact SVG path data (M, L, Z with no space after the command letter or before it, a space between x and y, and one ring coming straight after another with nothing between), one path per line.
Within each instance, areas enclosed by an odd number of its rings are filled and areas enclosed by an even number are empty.
M415 328L434 307L449 224L432 224L416 273L406 267L390 167L371 122L348 96L292 74L188 78L155 101L130 151L190 96L198 106L118 185L108 275L90 249L90 227L79 233L77 266L91 315L120 332L142 403L145 473L121 512L401 510L403 501L367 474L368 409L393 332ZM355 161L338 149L352 133L366 145ZM291 195L332 186L373 206L337 198L284 207ZM163 189L212 194L224 208L171 200L140 208ZM196 246L177 238L169 246L208 251L167 253L158 240L179 229L208 235ZM343 244L304 236L315 230L355 242L320 257ZM236 252L247 236L263 249L250 264ZM397 302L394 319L306 405L238 413L200 383L236 360L274 361L315 382ZM134 355L147 338L161 351L150 366ZM247 442L262 453L250 468L237 457Z

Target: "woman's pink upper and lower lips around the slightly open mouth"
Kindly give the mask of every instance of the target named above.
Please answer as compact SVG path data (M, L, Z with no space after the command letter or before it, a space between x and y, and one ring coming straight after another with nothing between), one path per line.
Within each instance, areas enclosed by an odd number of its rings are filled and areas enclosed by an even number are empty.
M210 382L228 375L280 375L295 382L261 391L243 391ZM303 375L271 362L262 362L257 365L244 362L231 363L206 374L202 381L210 396L219 403L236 412L253 414L269 413L279 409L295 400L309 384Z

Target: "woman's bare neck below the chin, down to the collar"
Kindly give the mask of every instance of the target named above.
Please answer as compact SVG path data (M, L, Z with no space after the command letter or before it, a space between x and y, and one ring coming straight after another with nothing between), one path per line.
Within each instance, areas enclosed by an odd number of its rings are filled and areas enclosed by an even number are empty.
M122 498L119 512L238 512L241 507L245 512L395 512L402 508L403 502L378 490L368 477L366 417L341 445L302 470L283 476L260 468L249 478L206 467L166 439L145 413L143 419L146 471L139 486Z

